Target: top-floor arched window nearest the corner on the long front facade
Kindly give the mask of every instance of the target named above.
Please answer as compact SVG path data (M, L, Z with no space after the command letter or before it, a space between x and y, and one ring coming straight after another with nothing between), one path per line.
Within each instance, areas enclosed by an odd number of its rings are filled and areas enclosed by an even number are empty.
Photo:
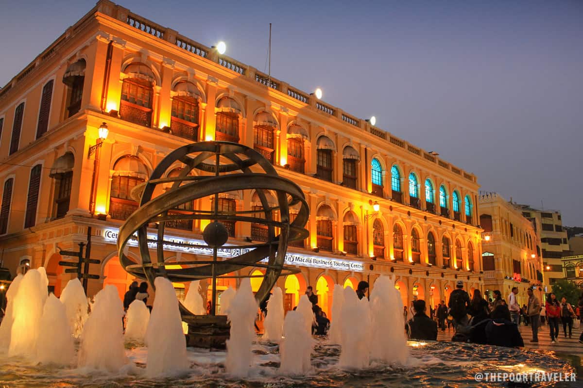
M120 118L152 126L152 95L154 74L143 63L131 63L125 69L128 77L121 85Z

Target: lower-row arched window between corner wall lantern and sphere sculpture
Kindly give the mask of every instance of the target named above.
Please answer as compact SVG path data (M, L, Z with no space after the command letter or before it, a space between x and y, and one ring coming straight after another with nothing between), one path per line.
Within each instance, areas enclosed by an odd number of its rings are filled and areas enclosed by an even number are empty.
M146 180L148 172L137 156L129 155L118 159L113 169L109 213L113 219L125 220L138 209L132 190Z

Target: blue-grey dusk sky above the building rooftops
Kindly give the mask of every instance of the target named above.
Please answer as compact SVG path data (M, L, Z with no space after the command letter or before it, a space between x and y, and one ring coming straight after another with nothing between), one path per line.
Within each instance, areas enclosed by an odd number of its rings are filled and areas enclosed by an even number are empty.
M3 0L0 84L94 4ZM583 226L582 1L120 4Z

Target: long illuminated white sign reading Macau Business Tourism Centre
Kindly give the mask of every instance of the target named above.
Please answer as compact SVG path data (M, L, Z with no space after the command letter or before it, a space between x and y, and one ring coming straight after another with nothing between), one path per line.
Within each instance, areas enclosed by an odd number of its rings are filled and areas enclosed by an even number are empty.
M117 242L117 235L119 233L119 229L113 228L106 228L103 229L103 233L101 237L103 237L107 241L114 241ZM148 246L150 248L156 247L157 241L157 234L148 233ZM133 237L128 241L128 245L137 247L138 246L138 239ZM228 244L227 244L228 245ZM195 239L184 239L183 237L175 237L175 236L165 236L164 239L164 250L167 251L179 251L179 252L187 252L192 254L201 254L201 255L209 255L212 256L213 250L206 246L206 243L202 240L195 240ZM236 249L224 249L219 248L217 250L218 257L224 258L231 258L237 257L238 255L244 254L246 252L251 251L253 248L245 248L240 247ZM262 261L266 262L267 259L263 259ZM287 252L285 258L286 265L299 265L299 266L307 266L307 267L315 267L315 268L325 268L325 269L339 269L339 270L346 270L346 271L355 271L361 272L364 270L364 264L360 261L353 261L353 260L345 260L345 259L336 259L336 258L329 258L329 257L322 257L322 256L314 256L314 255L305 255L300 253L293 253Z

